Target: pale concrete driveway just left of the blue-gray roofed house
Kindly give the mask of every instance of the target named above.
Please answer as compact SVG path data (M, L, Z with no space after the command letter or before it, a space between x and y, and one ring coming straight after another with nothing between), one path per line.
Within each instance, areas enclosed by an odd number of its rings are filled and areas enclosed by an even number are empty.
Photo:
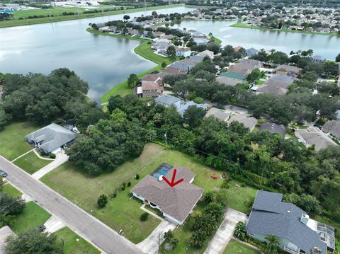
M230 239L234 235L234 229L237 222L246 222L246 214L228 208L225 212L225 219L217 229L215 236L210 241L204 254L221 254L227 247Z

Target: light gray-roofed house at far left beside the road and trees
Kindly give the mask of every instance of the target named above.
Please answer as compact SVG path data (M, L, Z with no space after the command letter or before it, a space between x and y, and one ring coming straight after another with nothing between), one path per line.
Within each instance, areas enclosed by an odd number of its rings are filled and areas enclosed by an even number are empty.
M26 136L26 140L46 154L56 154L76 139L77 134L54 123Z

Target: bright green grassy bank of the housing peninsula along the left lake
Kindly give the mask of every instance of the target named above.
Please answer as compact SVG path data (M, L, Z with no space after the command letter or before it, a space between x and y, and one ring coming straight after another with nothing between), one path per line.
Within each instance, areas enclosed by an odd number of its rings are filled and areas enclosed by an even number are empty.
M142 43L140 43L140 45L135 47L135 53L139 54L141 57L144 57L145 59L148 59L148 60L150 60L150 61L152 61L152 62L154 62L158 65L157 65L157 67L154 67L154 68L149 69L145 72L142 72L141 74L137 74L137 76L139 78L142 78L146 74L149 74L153 71L162 71L162 69L163 69L162 63L163 62L165 62L166 65L169 65L172 62L174 62L171 59L169 59L169 57L162 57L159 54L154 54L154 51L151 49L152 44L148 43L148 42L151 42L151 40L143 39L143 38L140 38L140 37L137 37L137 36L113 35L111 33L103 33L101 31L94 30L92 28L88 28L86 30L90 33L95 33L96 35L106 35L106 36L118 37L118 38L123 38L123 39L128 39L128 40L139 40L139 41L141 41ZM126 96L128 94L132 94L132 89L128 87L128 80L125 80L121 83L118 83L116 86L111 88L108 92L106 92L106 94L104 94L103 97L101 98L101 103L107 103L108 98L110 98L110 96L116 95L116 94L119 94L120 96Z

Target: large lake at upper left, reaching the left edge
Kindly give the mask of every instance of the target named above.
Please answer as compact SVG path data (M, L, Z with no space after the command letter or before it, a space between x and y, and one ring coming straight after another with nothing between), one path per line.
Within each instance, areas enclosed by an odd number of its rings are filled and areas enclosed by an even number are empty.
M176 7L157 13L183 13L193 8ZM130 13L130 17L151 15L152 11ZM115 84L156 64L133 52L136 40L94 35L89 23L123 19L124 15L86 18L76 21L24 25L0 29L0 72L49 74L67 67L89 83L89 97L98 101Z

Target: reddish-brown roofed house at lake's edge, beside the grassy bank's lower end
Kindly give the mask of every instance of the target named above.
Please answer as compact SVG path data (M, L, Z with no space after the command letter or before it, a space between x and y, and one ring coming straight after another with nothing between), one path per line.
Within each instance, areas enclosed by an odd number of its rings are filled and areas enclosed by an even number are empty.
M142 96L157 97L164 91L163 81L159 74L147 74L142 78Z

